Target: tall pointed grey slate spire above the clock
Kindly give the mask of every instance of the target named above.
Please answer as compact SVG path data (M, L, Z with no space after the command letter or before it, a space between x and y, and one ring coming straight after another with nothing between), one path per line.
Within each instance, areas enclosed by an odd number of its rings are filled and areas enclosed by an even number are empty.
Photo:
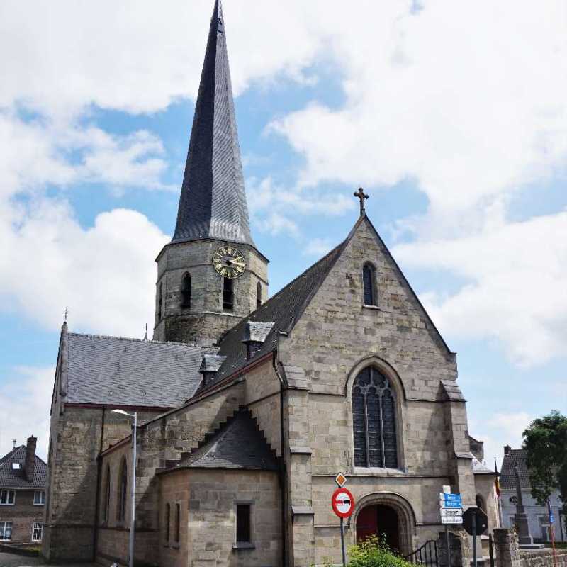
M199 238L254 245L220 0L210 21L172 242Z

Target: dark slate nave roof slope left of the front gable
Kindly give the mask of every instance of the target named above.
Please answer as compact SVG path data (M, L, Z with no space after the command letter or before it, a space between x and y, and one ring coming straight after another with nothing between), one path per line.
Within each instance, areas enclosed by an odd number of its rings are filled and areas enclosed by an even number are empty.
M220 339L218 354L227 357L223 366L220 367L212 384L222 380L226 376L243 368L250 361L258 359L264 354L276 348L279 334L289 332L296 324L301 313L315 295L322 281L335 265L344 246L349 239L344 240L335 249L332 249L319 262L313 264L309 269L282 288L275 296L271 297L264 305L259 307L247 318L228 330ZM273 323L262 347L247 361L245 339L246 327L249 322Z

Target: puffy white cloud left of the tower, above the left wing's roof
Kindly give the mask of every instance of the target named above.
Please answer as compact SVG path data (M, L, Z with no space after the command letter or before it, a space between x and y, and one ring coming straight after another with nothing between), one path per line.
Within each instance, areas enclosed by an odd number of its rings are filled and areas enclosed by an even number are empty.
M5 208L0 295L51 330L70 310L72 330L143 336L154 320L154 259L168 241L147 218L115 209L84 230L64 201ZM25 261L22 261L25 259Z

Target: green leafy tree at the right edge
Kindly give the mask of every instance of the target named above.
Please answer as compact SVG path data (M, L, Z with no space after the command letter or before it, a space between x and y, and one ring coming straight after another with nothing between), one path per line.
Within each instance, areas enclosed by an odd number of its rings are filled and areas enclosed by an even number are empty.
M567 417L558 411L532 421L523 433L532 496L545 505L559 490L567 514Z

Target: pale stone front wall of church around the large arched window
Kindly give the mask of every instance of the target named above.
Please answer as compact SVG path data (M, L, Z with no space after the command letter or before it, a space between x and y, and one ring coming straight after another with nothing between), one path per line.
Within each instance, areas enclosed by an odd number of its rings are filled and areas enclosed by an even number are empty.
M376 268L378 307L366 307L362 268ZM315 563L322 563L335 539L329 498L332 478L347 473L355 498L398 495L411 510L412 544L442 529L437 493L442 485L464 492L474 504L471 461L457 464L455 451L469 451L464 403L444 398L442 380L456 379L456 361L447 351L398 269L363 220L289 337L281 337L279 361L288 378L286 420L289 444L305 446L310 456L288 460L294 476L289 504L313 507ZM390 378L398 402L399 466L395 471L355 468L352 442L352 381L373 364ZM307 401L305 402L305 393ZM305 405L306 404L306 405ZM449 406L456 405L452 411ZM300 409L301 408L301 409ZM402 506L402 504L400 504ZM400 512L401 513L401 512ZM417 525L415 522L417 521ZM308 522L309 523L309 522ZM335 522L336 523L336 522ZM354 526L352 529L354 538ZM309 565L293 535L296 567ZM335 557L335 561L338 557Z

